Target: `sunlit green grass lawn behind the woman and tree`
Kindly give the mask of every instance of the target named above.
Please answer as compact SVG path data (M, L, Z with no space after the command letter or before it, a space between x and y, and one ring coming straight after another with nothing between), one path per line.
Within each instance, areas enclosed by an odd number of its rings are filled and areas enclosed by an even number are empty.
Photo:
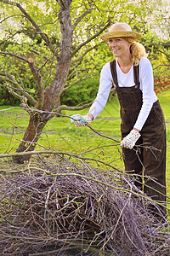
M158 97L165 113L167 125L167 195L170 196L170 90L162 92ZM6 108L10 107L3 106L0 110ZM87 112L88 109L84 109L76 113L86 114ZM73 113L65 111L62 114L71 115ZM13 108L8 111L0 111L0 116L0 154L12 153L18 147L20 139L24 135L29 116L23 110ZM120 124L119 103L116 96L111 96L105 109L92 122L91 126L95 131L120 141ZM123 169L122 154L118 143L97 135L88 127L76 128L74 124L71 124L71 120L66 117L54 117L48 122L36 149L44 150L44 148L101 159L111 163L119 170Z

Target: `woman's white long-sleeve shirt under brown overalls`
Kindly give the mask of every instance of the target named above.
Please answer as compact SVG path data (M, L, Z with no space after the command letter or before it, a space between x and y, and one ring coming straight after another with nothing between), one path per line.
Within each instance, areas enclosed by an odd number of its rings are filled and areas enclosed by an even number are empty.
M130 87L135 85L133 77L133 67L131 67L128 73L123 73L116 61L116 73L117 82L120 87ZM154 91L153 70L150 61L145 57L142 57L139 63L139 82L140 90L142 90L143 104L134 128L140 131L144 125L144 122L148 118L153 103L157 101L157 96ZM107 62L100 73L98 94L94 100L93 105L88 111L88 113L93 114L94 119L105 107L111 91L112 84L113 79L111 75L110 62Z

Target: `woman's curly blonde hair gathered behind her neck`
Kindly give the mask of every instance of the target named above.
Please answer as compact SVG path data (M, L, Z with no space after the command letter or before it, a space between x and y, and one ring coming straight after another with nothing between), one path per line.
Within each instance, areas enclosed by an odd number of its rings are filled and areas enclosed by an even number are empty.
M138 42L133 42L133 38L126 38L126 40L131 43L130 53L131 53L131 59L133 61L133 64L134 66L138 66L139 60L141 59L141 57L148 56L144 48L144 45L139 44Z

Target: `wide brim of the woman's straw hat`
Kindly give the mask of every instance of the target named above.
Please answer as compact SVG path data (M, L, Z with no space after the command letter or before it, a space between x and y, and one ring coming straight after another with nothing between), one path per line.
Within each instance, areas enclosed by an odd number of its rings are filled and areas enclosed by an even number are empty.
M139 32L133 31L114 31L114 32L105 32L100 38L105 42L108 42L111 38L133 38L137 40L141 38L141 34Z

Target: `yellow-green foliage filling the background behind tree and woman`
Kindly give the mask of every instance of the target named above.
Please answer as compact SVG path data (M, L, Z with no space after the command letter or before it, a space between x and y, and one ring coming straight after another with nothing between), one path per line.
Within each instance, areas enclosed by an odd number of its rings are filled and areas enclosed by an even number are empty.
M18 3L26 9L26 12L31 15L42 32L48 36L56 53L59 54L59 3L52 0L47 0L45 3L41 0L31 0L29 2L27 0L19 0ZM32 26L30 20L26 19L15 4L8 5L1 2L0 9L3 10L0 17L2 20L0 50L23 56L26 59L33 58L37 67L42 67L42 82L47 87L54 78L57 58L48 49L47 44L43 41L35 27ZM162 55L158 51L160 50L160 45L161 50L164 51L166 49L168 53L168 49L164 44L165 41L161 39L160 42L160 38L156 35L155 31L158 21L162 31L166 30L166 33L168 31L167 25L164 24L164 18L167 17L166 1L140 0L137 4L136 0L130 2L126 0L73 0L71 3L72 26L74 26L77 18L87 9L91 10L88 15L85 15L77 23L74 30L72 51L99 32L105 26L106 21L110 19L111 23L125 21L130 24L132 29L143 34L139 42L144 44L150 52L150 61L152 64L160 64L157 63L160 61L160 55ZM152 22L150 22L150 19ZM168 41L167 44L169 44ZM63 92L61 102L73 105L78 102L86 102L89 99L94 99L99 84L99 81L95 77L104 64L113 58L106 45L97 37L77 51L76 55L72 58L71 71L65 87L69 88L71 84L75 85L68 91ZM8 73L11 73L24 89L29 90L31 93L37 92L35 79L26 62L17 60L9 55L1 55L0 67L1 71L8 70ZM88 78L87 82L84 81L85 78ZM77 80L80 80L80 83L77 84ZM3 85L6 84L3 83ZM31 96L36 97L36 95ZM8 92L3 92L1 98L3 98L2 103L7 104Z

